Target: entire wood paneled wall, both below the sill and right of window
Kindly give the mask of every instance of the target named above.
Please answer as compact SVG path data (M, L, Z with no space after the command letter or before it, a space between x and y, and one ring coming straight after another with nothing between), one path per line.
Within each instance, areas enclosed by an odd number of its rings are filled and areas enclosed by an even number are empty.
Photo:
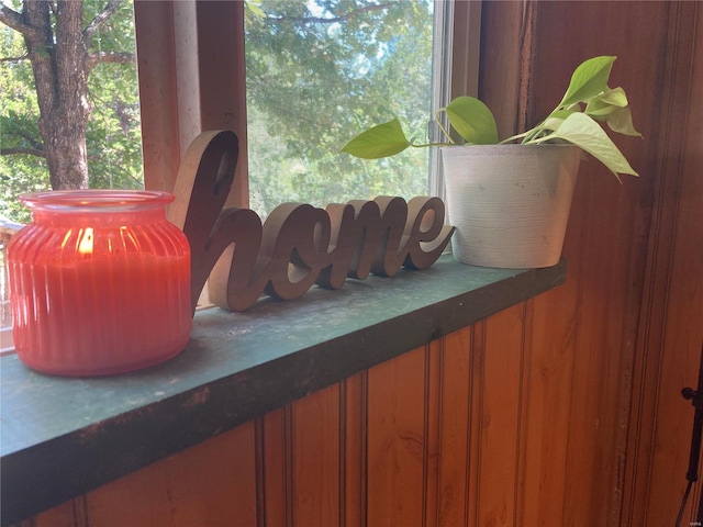
M702 10L486 2L501 130L614 54L645 135L620 142L639 179L582 164L567 284L27 525L673 525L703 341Z

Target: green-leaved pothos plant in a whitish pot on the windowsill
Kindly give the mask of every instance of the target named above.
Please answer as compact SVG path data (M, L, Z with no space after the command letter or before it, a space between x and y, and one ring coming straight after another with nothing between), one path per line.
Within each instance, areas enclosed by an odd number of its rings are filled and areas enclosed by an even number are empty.
M641 136L633 125L623 88L610 88L614 56L580 64L559 104L533 128L500 141L490 109L473 97L458 97L435 120L444 143L408 138L398 119L361 132L342 149L365 159L410 147L440 147L455 257L465 264L549 267L561 256L582 153L620 175L638 176L615 146L612 132ZM442 126L446 114L453 139Z

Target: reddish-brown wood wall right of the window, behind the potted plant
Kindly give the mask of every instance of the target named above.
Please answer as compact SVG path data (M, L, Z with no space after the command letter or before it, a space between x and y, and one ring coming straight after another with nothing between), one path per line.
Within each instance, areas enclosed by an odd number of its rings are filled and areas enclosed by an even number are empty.
M560 392L568 421L553 428L566 440L567 479L560 522L527 525L668 526L677 516L693 417L680 390L696 385L703 345L701 9L536 2L528 12L524 119L560 100L584 57L616 55L612 85L627 90L645 137L618 141L640 178L620 184L594 161L580 171L570 274L555 293L565 317L555 337L572 357L571 371L555 374L570 382Z

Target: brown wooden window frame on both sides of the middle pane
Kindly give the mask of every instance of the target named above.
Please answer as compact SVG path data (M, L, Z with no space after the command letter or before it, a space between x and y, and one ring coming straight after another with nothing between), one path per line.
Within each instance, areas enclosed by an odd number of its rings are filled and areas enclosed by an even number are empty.
M449 53L435 46L433 113L456 94L478 94L481 2L434 8L435 35ZM190 142L233 130L239 160L227 205L248 206L244 1L136 0L134 12L146 188L171 191ZM429 192L444 198L437 154Z

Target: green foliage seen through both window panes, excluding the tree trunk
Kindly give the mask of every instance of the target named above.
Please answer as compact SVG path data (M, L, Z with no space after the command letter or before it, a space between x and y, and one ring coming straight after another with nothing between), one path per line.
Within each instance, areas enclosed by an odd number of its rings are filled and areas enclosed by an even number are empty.
M19 0L3 0L21 11ZM85 20L105 0L83 0ZM353 131L398 115L426 134L432 83L432 0L253 0L246 13L252 208L410 198L427 192L428 157L367 162L341 155ZM88 44L132 52L132 3L123 2ZM49 188L33 75L22 35L0 24L0 214L24 223L21 192ZM89 76L91 188L140 188L136 64L98 64ZM392 101L389 105L386 101ZM422 101L417 103L417 101Z

